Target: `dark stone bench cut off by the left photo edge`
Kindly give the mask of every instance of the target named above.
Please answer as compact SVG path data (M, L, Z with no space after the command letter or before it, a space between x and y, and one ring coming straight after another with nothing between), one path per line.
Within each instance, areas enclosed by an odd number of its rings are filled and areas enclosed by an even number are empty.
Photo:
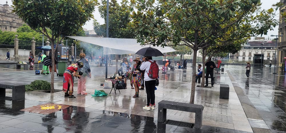
M12 101L25 99L25 85L8 82L0 83L0 97L6 96L6 89L12 89Z

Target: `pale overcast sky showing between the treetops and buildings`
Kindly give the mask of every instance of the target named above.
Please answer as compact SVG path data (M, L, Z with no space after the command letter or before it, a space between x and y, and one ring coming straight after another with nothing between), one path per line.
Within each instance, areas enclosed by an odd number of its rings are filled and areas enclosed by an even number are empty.
M5 4L5 0L0 0L1 1L1 3L0 4ZM100 1L100 0L99 0ZM120 3L122 0L118 0L118 3ZM261 5L261 7L262 7L262 9L269 9L269 8L271 8L271 5L273 5L273 4L275 4L275 3L277 3L277 2L279 2L280 0L261 0L261 3L262 3L262 5ZM12 5L12 1L11 0L8 0L8 4L9 5ZM277 11L277 19L279 18L279 12ZM99 14L99 12L98 12L98 9L96 8L95 9L95 11L93 12L93 15L94 15L94 19L96 19L100 24L104 24L104 20L100 17L100 14ZM88 30L93 30L93 24L92 24L92 22L93 22L93 19L92 20L90 20L90 21L88 21L88 22L86 22L86 24L83 26L84 28L86 28L86 29L88 29ZM265 38L268 38L268 36L270 37L270 38L274 38L274 37L271 37L270 35L277 35L278 34L278 26L276 26L275 28L274 28L274 30L272 30L272 31L268 31L268 33L267 33L267 35L263 35L263 37L265 37ZM259 36L260 37L260 36Z

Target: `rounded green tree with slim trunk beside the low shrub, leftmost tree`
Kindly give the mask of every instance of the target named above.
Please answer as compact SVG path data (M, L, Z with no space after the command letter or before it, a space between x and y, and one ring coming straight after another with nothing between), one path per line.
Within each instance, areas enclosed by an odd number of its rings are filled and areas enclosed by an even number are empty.
M13 0L13 12L51 41L51 93L54 92L54 58L58 44L64 36L82 29L82 25L93 18L92 12L97 5L97 0Z

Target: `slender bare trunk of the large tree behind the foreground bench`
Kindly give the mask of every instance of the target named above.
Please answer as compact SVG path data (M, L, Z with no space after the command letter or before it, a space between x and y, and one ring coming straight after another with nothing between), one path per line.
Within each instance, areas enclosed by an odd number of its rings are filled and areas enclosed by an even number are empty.
M198 50L194 50L193 54L193 69L192 69L192 88L191 88L191 98L190 104L194 104L194 97L195 97L195 89L196 89L196 54Z

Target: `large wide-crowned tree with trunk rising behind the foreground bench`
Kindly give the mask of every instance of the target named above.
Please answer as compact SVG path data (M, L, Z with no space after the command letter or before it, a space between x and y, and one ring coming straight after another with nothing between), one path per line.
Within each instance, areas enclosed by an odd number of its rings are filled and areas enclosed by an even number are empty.
M185 45L193 50L267 34L278 24L273 8L261 10L260 0L131 0L136 39L142 45ZM276 10L281 4L276 4ZM184 44L180 42L183 41ZM167 45L171 46L171 45ZM192 69L190 103L194 103L196 69Z

